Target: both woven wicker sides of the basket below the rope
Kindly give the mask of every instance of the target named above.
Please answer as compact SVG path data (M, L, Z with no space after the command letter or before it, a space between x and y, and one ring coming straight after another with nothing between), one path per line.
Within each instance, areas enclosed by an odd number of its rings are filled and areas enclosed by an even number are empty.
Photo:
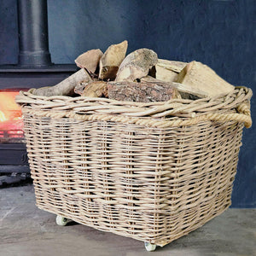
M164 245L230 206L242 125L153 129L24 114L38 207Z

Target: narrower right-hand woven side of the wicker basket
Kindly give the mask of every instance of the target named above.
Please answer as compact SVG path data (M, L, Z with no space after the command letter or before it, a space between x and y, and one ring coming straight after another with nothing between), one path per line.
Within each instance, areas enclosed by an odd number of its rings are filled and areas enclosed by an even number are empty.
M234 122L201 122L177 129L175 141L174 131L166 131L166 142L177 146L174 153L174 147L166 148L171 160L163 166L170 171L162 183L166 207L155 243L184 236L230 206L242 128Z

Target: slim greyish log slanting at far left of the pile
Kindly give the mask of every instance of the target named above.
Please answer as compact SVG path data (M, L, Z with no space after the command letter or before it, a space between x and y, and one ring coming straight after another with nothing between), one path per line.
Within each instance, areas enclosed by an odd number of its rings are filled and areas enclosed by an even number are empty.
M81 81L91 81L90 74L84 68L55 86L32 90L32 94L38 96L73 96L75 86Z

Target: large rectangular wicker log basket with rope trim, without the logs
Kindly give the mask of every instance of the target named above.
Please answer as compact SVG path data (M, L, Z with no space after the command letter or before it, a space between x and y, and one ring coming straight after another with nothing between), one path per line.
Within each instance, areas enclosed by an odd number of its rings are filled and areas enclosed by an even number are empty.
M40 209L163 246L230 206L252 90L118 102L20 92Z

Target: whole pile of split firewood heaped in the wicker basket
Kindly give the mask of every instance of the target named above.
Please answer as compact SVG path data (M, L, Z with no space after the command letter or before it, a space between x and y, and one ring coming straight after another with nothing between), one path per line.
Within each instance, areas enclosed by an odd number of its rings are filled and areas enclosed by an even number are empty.
M230 93L235 87L198 61L189 63L158 58L152 49L126 55L128 42L112 44L102 53L90 49L75 63L81 69L51 87L32 90L38 96L106 97L125 102L195 100Z

